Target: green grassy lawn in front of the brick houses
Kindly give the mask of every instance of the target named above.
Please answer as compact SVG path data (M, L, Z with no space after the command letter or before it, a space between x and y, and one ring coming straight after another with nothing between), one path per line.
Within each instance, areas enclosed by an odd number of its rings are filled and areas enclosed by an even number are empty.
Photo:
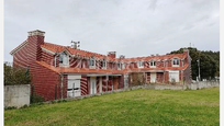
M220 88L133 90L4 111L4 125L220 125Z

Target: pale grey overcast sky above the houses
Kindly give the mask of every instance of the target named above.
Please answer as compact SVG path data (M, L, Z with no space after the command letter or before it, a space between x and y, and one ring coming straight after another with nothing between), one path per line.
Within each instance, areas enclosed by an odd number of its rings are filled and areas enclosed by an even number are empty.
M167 54L191 43L220 50L219 0L4 0L4 61L27 38L126 57Z

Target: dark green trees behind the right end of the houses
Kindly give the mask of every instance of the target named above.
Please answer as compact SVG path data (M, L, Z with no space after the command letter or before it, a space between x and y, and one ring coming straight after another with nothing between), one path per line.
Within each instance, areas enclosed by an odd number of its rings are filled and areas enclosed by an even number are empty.
M214 79L214 77L220 77L220 51L201 51L197 48L189 47L191 60L192 79L197 80L199 76L199 65L200 59L200 75L201 79ZM170 54L183 53L183 48L179 50L171 51Z

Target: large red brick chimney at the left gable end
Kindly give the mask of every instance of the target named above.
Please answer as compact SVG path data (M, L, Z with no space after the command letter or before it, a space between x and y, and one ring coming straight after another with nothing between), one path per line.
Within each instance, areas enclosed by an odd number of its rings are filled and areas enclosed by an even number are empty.
M41 45L44 44L45 32L36 30L27 33L27 60L29 62L41 60Z

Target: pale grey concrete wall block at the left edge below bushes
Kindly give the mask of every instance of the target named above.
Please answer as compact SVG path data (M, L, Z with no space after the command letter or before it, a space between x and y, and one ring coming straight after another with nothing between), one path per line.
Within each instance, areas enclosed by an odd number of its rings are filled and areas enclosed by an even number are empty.
M4 107L30 105L30 84L4 85Z

